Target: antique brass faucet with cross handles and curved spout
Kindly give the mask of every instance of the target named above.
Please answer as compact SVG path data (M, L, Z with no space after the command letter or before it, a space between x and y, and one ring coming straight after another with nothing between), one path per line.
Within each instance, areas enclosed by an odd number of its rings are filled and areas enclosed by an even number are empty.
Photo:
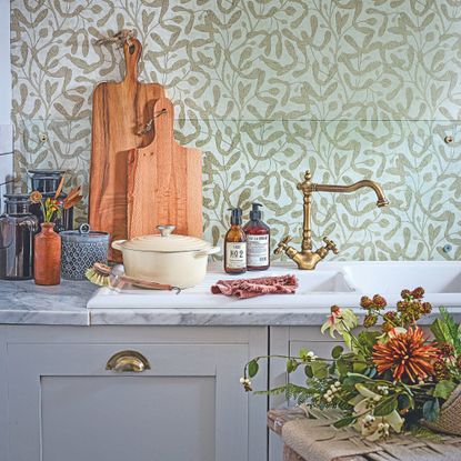
M324 237L324 247L319 248L317 251L312 251L312 231L311 231L311 203L312 192L353 192L361 188L371 188L378 197L378 207L387 207L389 204L388 199L384 197L384 192L381 187L369 179L364 179L359 182L354 182L350 186L335 186L335 184L317 184L311 182L311 172L308 170L304 174L304 181L298 184L298 190L304 194L304 222L302 231L302 245L301 251L295 250L293 247L289 247L288 243L291 241L291 237L287 235L277 245L274 253L279 254L282 251L292 259L297 264L298 269L313 270L319 261L321 261L329 251L338 254L338 248L332 240Z

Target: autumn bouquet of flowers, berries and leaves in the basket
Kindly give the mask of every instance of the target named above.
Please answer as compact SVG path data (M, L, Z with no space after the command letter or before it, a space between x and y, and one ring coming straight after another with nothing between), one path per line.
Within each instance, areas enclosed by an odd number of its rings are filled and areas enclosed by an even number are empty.
M403 290L397 309L387 311L383 297L363 297L361 331L351 309L333 305L321 331L340 335L345 348L334 347L331 359L305 349L298 357L277 355L287 360L288 373L303 370L305 387L287 383L258 393L285 393L298 403L340 409L343 417L333 425L353 427L370 441L402 431L429 433L424 423L438 421L443 403L461 384L461 325L440 308L430 327L433 340L428 340L418 325L432 311L423 297L421 287ZM240 380L245 391L252 391L262 359L245 364ZM461 413L459 418L461 427Z

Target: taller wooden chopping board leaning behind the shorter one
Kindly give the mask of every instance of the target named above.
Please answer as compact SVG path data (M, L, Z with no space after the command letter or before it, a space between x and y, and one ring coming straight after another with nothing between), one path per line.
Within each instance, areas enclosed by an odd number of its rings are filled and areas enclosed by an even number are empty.
M164 94L158 83L138 81L141 43L130 39L123 52L127 71L121 82L102 82L93 92L89 222L112 240L127 233L127 159L131 149L148 146L153 130L139 134L151 119L156 100ZM121 261L119 251L109 259Z

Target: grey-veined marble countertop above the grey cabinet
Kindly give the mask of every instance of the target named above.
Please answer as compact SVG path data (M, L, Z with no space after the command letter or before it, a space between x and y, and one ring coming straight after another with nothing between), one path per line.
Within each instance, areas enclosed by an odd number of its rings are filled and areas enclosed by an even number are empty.
M239 307L239 301L213 297L209 305L91 308L89 301L98 291L108 289L86 282L62 281L56 287L39 287L31 280L0 280L0 324L51 324L51 325L281 325L321 324L325 309L297 310L280 307L264 308L264 298L250 307ZM131 290L130 290L131 291ZM132 291L139 294L137 290ZM146 292L143 292L146 293ZM183 297L186 293L181 293ZM141 294L142 295L142 294ZM174 303L176 294L168 293ZM103 297L104 299L104 297ZM110 299L110 297L109 297ZM124 301L122 297L122 302ZM226 301L220 307L217 301ZM213 301L213 302L211 302ZM230 302L229 302L230 301ZM254 304L259 305L257 309ZM273 300L270 304L273 304ZM130 301L126 305L131 305ZM136 305L136 304L133 304ZM230 307L229 307L230 305Z

